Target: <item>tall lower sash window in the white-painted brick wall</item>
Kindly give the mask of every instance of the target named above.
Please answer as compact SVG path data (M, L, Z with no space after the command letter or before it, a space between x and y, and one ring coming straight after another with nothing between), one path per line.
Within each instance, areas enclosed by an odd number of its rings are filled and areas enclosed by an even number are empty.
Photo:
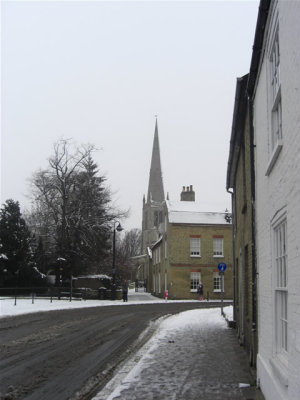
M287 221L282 216L273 224L274 331L275 352L282 361L288 355L288 252Z

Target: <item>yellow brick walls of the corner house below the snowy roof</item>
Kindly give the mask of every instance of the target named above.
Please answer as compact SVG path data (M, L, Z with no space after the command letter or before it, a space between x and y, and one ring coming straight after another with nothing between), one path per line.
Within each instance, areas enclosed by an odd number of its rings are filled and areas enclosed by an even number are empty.
M200 236L201 257L190 256L190 235ZM213 237L223 236L224 257L213 256ZM168 243L168 256L164 257L164 242ZM152 266L155 275L160 272L161 293L165 286L165 271L167 271L167 287L169 298L198 299L197 293L190 291L190 273L200 272L204 289L204 297L220 299L221 293L214 292L214 272L218 273L218 263L225 262L227 269L224 275L224 299L232 299L232 229L231 225L184 225L169 224L161 246L161 262ZM155 249L154 249L155 250ZM157 279L157 278L156 278ZM152 285L152 288L154 286ZM156 285L156 294L158 288Z

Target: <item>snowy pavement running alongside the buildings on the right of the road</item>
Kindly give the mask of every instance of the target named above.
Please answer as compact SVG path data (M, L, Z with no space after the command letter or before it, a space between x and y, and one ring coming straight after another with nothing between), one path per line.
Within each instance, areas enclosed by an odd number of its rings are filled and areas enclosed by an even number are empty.
M132 297L131 297L132 296ZM137 300L138 293L129 295ZM152 296L141 294L143 300ZM148 296L148 297L147 297ZM226 309L225 309L226 310ZM93 400L264 400L220 309L159 321L157 333Z

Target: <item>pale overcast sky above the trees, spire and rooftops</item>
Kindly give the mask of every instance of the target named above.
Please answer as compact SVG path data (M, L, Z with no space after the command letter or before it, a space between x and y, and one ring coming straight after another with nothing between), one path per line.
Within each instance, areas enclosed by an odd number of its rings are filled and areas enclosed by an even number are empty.
M94 144L113 199L141 228L158 132L165 193L225 190L236 78L249 71L258 1L2 1L1 204L30 207L53 144Z

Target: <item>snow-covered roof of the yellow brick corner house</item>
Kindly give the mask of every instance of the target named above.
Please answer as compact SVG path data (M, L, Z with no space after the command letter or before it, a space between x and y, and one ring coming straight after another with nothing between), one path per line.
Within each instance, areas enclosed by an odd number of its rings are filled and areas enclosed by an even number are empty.
M201 203L167 200L166 205L170 223L229 225L225 220L225 212L205 210Z

